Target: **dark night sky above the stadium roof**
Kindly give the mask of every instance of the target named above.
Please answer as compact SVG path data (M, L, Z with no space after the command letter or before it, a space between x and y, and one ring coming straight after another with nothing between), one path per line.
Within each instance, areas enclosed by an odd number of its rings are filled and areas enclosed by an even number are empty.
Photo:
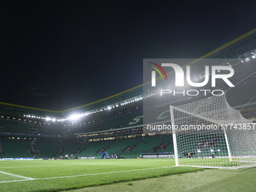
M256 1L0 5L0 102L51 110L142 84L144 58L198 58L256 27Z

